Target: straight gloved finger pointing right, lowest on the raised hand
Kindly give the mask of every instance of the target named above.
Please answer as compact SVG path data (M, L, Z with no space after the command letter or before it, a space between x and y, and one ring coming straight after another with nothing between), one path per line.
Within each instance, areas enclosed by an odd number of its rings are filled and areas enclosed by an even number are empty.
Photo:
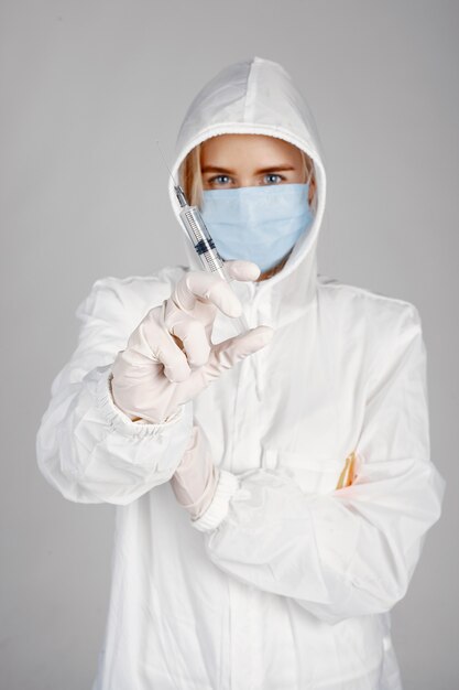
M201 389L217 379L225 369L230 369L238 362L262 349L274 335L270 326L258 326L242 335L230 337L210 351L210 356L204 366L192 373L188 385L193 389ZM195 388L196 386L196 388Z

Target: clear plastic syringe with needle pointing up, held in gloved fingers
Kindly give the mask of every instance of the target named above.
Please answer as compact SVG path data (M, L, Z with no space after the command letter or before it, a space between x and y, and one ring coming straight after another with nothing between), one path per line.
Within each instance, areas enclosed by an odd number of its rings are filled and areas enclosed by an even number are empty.
M156 140L157 147L160 144ZM161 152L161 149L160 149ZM163 157L164 160L164 157ZM181 187L179 184L176 184L176 181L173 177L171 170L168 169L167 163L164 160L164 163L171 174L171 177L174 182L175 195L181 205L179 217L184 225L184 228L193 244L193 247L196 254L199 257L199 260L203 265L204 270L209 273L217 272L222 280L230 283L232 280L232 276L228 274L227 269L225 267L225 259L218 254L218 250L215 246L214 239L210 236L209 230L204 223L203 216L199 213L199 208L197 206L190 206L186 200L185 192ZM231 319L231 317L229 317ZM247 333L250 330L249 324L247 323L245 316L241 314L240 316L236 316L231 319L233 324L233 328L237 334Z

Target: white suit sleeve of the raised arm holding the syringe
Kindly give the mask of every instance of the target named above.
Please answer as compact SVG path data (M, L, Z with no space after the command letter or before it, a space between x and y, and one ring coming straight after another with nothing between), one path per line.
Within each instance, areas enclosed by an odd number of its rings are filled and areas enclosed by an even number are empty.
M127 300L129 288L122 280L97 280L77 308L78 344L52 382L36 433L41 473L76 503L125 505L167 482L193 429L192 402L161 424L133 422L113 402L111 365L136 326L132 314L138 322L144 315L136 313L141 299ZM157 303L167 295L159 281Z

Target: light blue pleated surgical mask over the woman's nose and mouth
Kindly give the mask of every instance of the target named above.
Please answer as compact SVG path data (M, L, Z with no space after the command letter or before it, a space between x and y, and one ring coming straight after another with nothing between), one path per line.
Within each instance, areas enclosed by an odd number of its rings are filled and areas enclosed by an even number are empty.
M309 184L205 190L201 216L223 259L274 268L313 222Z

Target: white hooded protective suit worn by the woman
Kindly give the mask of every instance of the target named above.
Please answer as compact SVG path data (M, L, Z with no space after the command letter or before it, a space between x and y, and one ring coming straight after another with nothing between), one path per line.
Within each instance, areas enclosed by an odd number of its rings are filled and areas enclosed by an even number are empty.
M97 280L52 384L40 470L73 502L117 506L112 586L94 690L400 690L390 610L405 594L445 481L429 457L426 349L405 300L317 273L326 200L317 134L289 76L260 57L220 72L181 129L173 174L219 133L280 137L316 166L318 207L284 268L232 282L271 343L163 424L108 387L146 312L200 268ZM168 187L177 215L173 184ZM182 226L181 226L182 227ZM214 342L233 335L218 314ZM192 522L168 479L193 423L220 470ZM337 484L350 453L357 477Z

